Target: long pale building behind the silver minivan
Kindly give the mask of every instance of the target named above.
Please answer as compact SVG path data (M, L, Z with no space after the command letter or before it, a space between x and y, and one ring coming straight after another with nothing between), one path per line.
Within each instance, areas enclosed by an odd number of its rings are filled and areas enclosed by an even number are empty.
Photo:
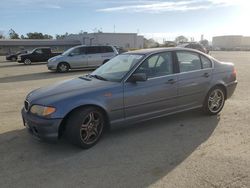
M143 36L137 33L82 33L67 36L70 40L79 40L84 45L114 45L125 49L143 48Z

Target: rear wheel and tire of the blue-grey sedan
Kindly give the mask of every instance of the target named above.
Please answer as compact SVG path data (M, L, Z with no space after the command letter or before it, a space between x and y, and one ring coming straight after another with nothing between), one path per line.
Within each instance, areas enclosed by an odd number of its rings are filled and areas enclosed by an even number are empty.
M214 87L208 92L204 104L203 110L206 114L216 115L218 114L225 104L225 91L221 87Z

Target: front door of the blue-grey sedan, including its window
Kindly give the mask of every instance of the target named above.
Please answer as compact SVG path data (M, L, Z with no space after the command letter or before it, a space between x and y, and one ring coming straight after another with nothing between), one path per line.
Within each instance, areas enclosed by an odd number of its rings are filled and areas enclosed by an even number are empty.
M173 74L171 52L150 56L134 73L145 73L148 80L124 83L125 118L150 118L175 108L177 75Z

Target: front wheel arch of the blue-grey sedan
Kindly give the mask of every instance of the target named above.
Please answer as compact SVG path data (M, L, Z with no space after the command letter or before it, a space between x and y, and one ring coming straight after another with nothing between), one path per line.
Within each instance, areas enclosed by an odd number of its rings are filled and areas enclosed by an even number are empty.
M95 107L95 108L98 108L104 115L104 118L105 118L105 129L109 129L110 127L110 119L109 119L109 116L108 116L108 113L107 111L100 105L96 105L96 104L84 104L84 105L80 105L80 106L77 106L73 109L71 109L63 118L60 126L59 126L59 129L58 129L58 138L60 138L62 135L63 135L63 132L65 131L65 128L66 128L66 124L67 124L67 120L68 118L70 117L70 115L81 109L81 108L87 108L87 107Z

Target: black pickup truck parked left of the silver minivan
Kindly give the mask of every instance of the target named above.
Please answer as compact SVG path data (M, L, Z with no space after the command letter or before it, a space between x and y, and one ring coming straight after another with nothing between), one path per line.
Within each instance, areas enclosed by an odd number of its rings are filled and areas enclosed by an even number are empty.
M25 65L30 65L32 62L46 62L51 57L57 56L61 53L52 53L51 48L41 47L35 48L30 53L21 54L18 56L18 63L24 63Z

